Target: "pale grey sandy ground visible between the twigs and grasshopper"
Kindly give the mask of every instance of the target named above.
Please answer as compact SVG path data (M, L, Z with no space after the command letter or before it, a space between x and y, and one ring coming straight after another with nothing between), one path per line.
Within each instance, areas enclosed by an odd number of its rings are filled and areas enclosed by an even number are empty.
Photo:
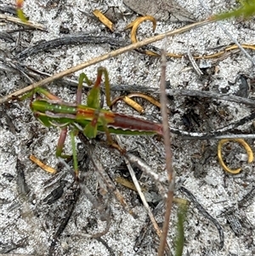
M230 3L229 3L230 2ZM3 1L3 4L11 3ZM2 4L1 3L1 4ZM202 20L207 17L207 11L215 14L226 7L235 6L235 1L204 1L207 10L201 7L199 1L187 1L180 5L195 17ZM69 29L70 33L85 31L93 36L109 36L121 38L129 43L129 31L123 31L127 24L134 20L136 14L122 4L122 1L60 1L59 4L52 3L48 8L46 1L26 0L25 13L30 20L41 23L47 28L42 31L22 31L20 34L13 33L14 42L0 40L1 55L3 60L14 60L29 65L38 71L54 74L64 71L71 66L92 60L101 54L111 52L114 47L108 44L80 44L62 46L60 48L33 54L24 59L15 57L23 49L32 46L42 40L52 40L64 37L59 33L59 26ZM55 17L59 10L63 9ZM106 11L114 8L116 32L111 33L98 20L93 18L93 10ZM229 34L239 43L254 44L255 31L254 19L228 20L222 22ZM8 31L17 26L10 23L2 24L1 29ZM182 22L170 23L169 21L158 21L156 31L151 31L150 22L145 22L139 28L139 40L145 37L173 30L184 26ZM116 39L116 40L117 40ZM229 46L232 39L224 33L218 24L202 26L188 31L176 37L154 43L158 48L166 48L167 52L174 54L196 54L207 55L216 53L220 48ZM252 51L248 51L253 56ZM4 61L3 61L4 62ZM194 71L190 60L187 58L171 59L167 61L167 81L170 88L191 89L200 91L212 91L218 94L236 95L240 92L241 82L250 82L250 88L244 86L249 98L254 97L254 67L250 60L241 52L233 52L224 55L224 58L212 60L197 60L197 64L203 67L203 75L199 77ZM141 86L142 88L159 88L161 74L161 63L157 58L132 51L105 60L99 65L107 67L111 85L113 86ZM88 77L94 79L99 65L92 65L83 70ZM1 71L2 70L2 71ZM26 87L30 84L20 73L0 70L0 97ZM79 72L74 74L76 77ZM245 77L245 78L243 78ZM248 77L248 78L246 78ZM72 78L72 77L70 77ZM252 83L253 79L253 83ZM240 82L241 81L241 82ZM246 83L245 83L246 84ZM75 100L75 88L68 86L56 86L51 84L49 90L68 102ZM112 92L112 96L120 94ZM123 93L125 94L125 92ZM158 94L153 94L158 98ZM240 95L240 94L239 94ZM241 96L246 96L244 93ZM84 93L84 104L86 94ZM171 117L169 121L173 128L188 132L210 133L218 128L228 126L229 123L237 122L252 112L252 108L235 102L224 100L201 99L194 97L175 96L169 98ZM144 102L145 117L161 121L160 111ZM9 102L1 105L0 119L0 253L24 253L32 255L156 255L158 238L151 225L144 241L134 250L135 242L147 218L146 211L134 191L117 185L117 188L126 198L129 206L138 215L133 216L125 211L120 202L110 192L107 204L111 207L110 230L99 239L88 238L85 235L95 234L105 229L102 213L97 211L84 191L78 197L75 209L71 214L63 233L56 241L53 250L50 250L54 240L54 234L58 230L60 222L65 218L71 208L73 191L71 188L72 177L66 168L55 157L55 145L58 141L59 129L45 128L33 117L29 109L30 100L22 102ZM118 105L118 111L132 115L138 115L130 107L124 104ZM8 121L8 117L10 120ZM233 129L233 133L253 134L252 120L241 127ZM122 143L127 151L138 153L158 174L164 174L164 150L163 143L156 137L147 136L122 136ZM247 139L254 151L253 139ZM79 160L82 164L82 172L86 174L84 183L91 193L101 202L105 197L99 196L99 175L95 172L91 163L86 162L88 158L86 147L77 139L79 149ZM255 255L254 225L255 225L255 202L251 196L246 208L238 209L238 202L249 194L254 184L254 162L246 164L245 151L238 145L231 144L227 160L232 168L242 164L241 174L226 174L218 164L217 140L186 140L181 136L173 135L173 167L176 172L176 196L187 198L179 191L183 185L191 191L196 200L203 208L218 220L224 230L224 247L219 249L218 230L210 219L205 218L193 203L190 204L185 222L185 243L183 255ZM94 144L94 143L92 143ZM65 143L65 151L71 153L70 139ZM204 158L205 152L209 151ZM37 156L42 162L47 163L59 170L59 174L52 176L44 172L32 163L28 156ZM102 162L105 171L115 179L127 171L121 167L122 156L117 156L112 151L102 148L96 144L94 156ZM203 162L201 159L205 159ZM71 164L71 163L70 163ZM29 194L24 196L17 184L20 170L24 171ZM61 172L60 172L61 171ZM140 173L137 171L138 174ZM126 175L127 176L127 175ZM56 202L49 204L45 198L59 186L62 180L63 194ZM146 174L139 179L147 190L147 196L152 197L154 208L159 196L154 180ZM254 186L254 185L253 185ZM254 191L253 194L254 195ZM237 231L231 229L226 216L222 213L225 209L234 208L231 218ZM175 223L178 206L173 206L171 219L171 230L169 231L168 243L174 255ZM163 222L164 209L161 208L156 214L159 224ZM103 215L107 217L106 213ZM234 216L234 217L233 217ZM230 217L229 217L230 218ZM237 233L237 234L236 234Z

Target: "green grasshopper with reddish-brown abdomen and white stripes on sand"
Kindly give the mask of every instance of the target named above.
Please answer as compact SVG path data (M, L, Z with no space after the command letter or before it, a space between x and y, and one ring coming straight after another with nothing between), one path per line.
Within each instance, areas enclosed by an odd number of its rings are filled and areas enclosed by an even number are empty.
M105 133L111 145L113 142L110 134L162 135L161 123L150 122L100 108L99 94L103 74L105 75L106 102L107 105L110 106L110 82L108 72L104 67L99 67L98 69L97 79L88 94L87 105L81 104L82 82L84 79L88 85L91 85L91 82L84 73L79 77L76 103L67 103L54 94L50 94L44 88L36 89L36 92L42 94L44 99L39 98L31 102L31 111L33 111L34 116L42 122L44 126L54 126L61 129L56 156L62 158L69 157L62 154L62 152L68 128L71 130L71 146L76 180L78 180L78 163L75 136L78 132L82 132L88 139L95 138L98 133ZM34 93L35 92L32 92L32 94ZM25 97L22 98L25 99Z

